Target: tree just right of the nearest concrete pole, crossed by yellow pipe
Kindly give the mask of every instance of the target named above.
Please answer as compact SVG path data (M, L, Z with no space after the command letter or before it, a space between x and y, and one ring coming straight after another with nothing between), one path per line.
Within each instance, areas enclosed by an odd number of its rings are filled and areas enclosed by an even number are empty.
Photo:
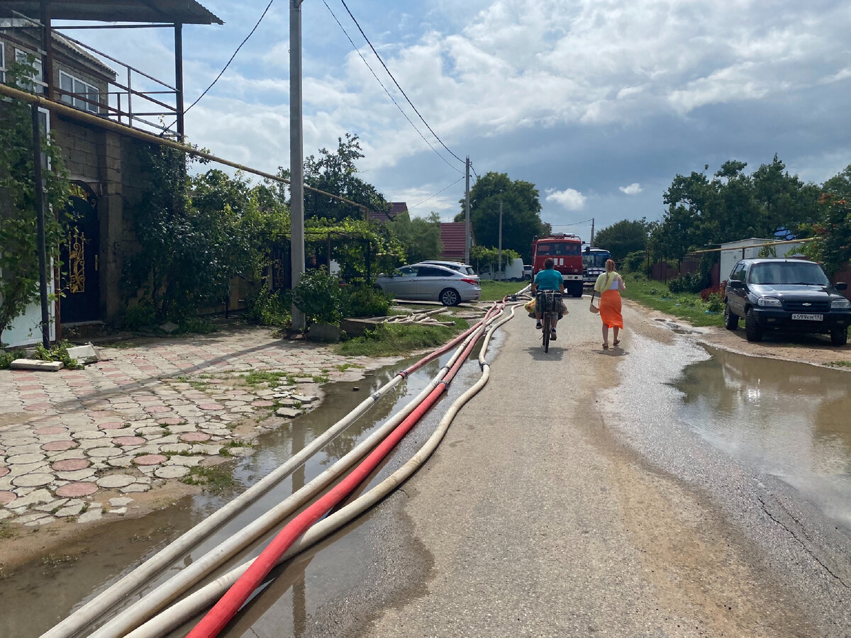
M357 160L365 157L357 135L346 133L346 140L337 138L337 150L319 149L319 157L305 160L305 185L357 202L374 211L386 211L390 204L375 187L357 176ZM279 174L289 179L289 169L279 168ZM316 219L363 219L357 206L340 202L314 191L305 191L305 217Z

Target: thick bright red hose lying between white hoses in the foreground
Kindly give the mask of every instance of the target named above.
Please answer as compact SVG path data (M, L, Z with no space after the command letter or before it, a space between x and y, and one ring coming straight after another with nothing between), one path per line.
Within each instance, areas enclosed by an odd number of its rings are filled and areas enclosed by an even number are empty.
M480 333L477 333L477 337ZM275 538L266 545L266 549L260 552L260 555L251 563L251 567L243 573L235 584L227 590L226 594L220 598L214 607L201 619L194 629L189 632L187 638L214 638L219 635L220 631L225 628L243 603L248 600L248 597L254 593L264 578L271 572L272 567L275 567L277 561L290 546L320 518L325 516L329 510L332 510L343 498L346 498L358 485L360 485L371 473L378 467L378 464L385 459L387 454L391 453L392 449L397 446L397 443L402 440L403 436L408 434L408 431L419 423L423 415L437 402L437 399L446 391L448 384L454 379L456 373L463 365L465 357L469 356L473 346L476 345L478 339L471 339L467 344L463 356L461 356L454 366L449 370L445 379L437 385L437 388L431 390L431 394L426 398L426 401L408 415L396 430L393 430L390 436L387 436L380 445L376 447L368 457L363 460L357 467L351 471L342 481L335 485L323 497L318 498L316 502L311 504L306 510L302 511L298 516L283 527L277 533Z

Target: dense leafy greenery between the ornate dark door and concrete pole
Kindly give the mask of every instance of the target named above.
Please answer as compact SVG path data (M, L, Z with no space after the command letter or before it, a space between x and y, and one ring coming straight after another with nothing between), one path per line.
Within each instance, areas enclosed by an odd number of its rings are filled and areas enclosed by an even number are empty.
M289 225L280 203L261 208L261 191L239 174L187 176L186 156L173 149L141 149L140 165L144 194L128 202L140 246L125 262L130 298L141 294L157 321L183 322L226 299L233 277L259 281L272 238Z

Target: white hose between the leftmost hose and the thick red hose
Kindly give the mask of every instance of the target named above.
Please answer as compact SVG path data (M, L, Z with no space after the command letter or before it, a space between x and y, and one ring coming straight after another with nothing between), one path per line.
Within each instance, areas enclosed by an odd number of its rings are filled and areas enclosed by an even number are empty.
M494 307L496 306L494 305ZM415 397L413 401L403 407L403 409L392 419L389 419L378 430L375 430L370 436L368 436L361 444L351 450L350 453L346 454L346 456L334 463L328 468L328 470L325 470L321 475L317 476L317 478L309 482L305 487L302 487L298 492L292 494L288 498L285 498L280 504L277 504L274 508L258 517L255 521L248 524L246 527L243 527L238 533L231 536L231 538L227 538L197 561L193 561L191 565L180 570L180 572L174 575L173 578L170 578L166 583L159 585L155 590L152 590L139 601L134 602L133 605L123 610L123 612L120 612L115 618L112 618L108 623L100 627L100 629L94 631L91 638L113 638L114 636L125 635L128 631L145 622L153 613L156 613L158 610L167 606L169 602L174 601L175 598L190 589L200 578L208 575L208 573L212 572L216 567L220 567L222 563L231 559L234 555L237 555L241 550L244 550L248 544L254 543L254 541L261 538L264 534L283 521L283 519L291 515L294 510L297 510L302 504L305 504L308 500L313 498L317 493L321 493L326 487L328 487L329 483L345 472L352 464L355 464L358 459L363 458L364 454L368 453L368 451L377 445L379 441L385 438L394 428L397 427L398 424L403 421L403 419L405 419L405 417L408 416L409 413L417 407L417 405L420 404L420 402L423 402L426 399L431 390L433 390L441 382L443 376L448 372L448 367L460 358L465 346L476 337L477 332L483 330L483 323L485 321L494 321L494 317L490 316L493 310L493 308L488 310L488 314L482 322L478 322L476 326L465 331L465 333L462 333L462 337L465 334L467 336L463 340L462 345L460 345L458 350L455 352L454 356L450 358L447 365L444 366L439 373L437 373L435 379L432 379L431 383L420 392L420 395ZM457 341L457 338L453 339L453 341ZM445 346L438 350L444 351ZM433 355L434 353L431 353L430 356ZM420 362L414 363L414 366L419 367L420 365L424 365L424 363L421 363L422 361L423 360L420 360ZM408 367L406 372L411 370L412 367Z

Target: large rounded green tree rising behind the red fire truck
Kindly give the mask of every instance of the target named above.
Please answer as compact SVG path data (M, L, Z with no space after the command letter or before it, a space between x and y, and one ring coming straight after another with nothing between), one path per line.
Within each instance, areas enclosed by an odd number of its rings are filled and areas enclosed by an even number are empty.
M528 263L532 259L532 239L544 235L549 227L540 220L540 201L534 184L511 180L505 173L488 173L476 180L470 190L470 225L480 246L498 246L502 202L502 248L520 253ZM464 221L464 200L455 221Z

